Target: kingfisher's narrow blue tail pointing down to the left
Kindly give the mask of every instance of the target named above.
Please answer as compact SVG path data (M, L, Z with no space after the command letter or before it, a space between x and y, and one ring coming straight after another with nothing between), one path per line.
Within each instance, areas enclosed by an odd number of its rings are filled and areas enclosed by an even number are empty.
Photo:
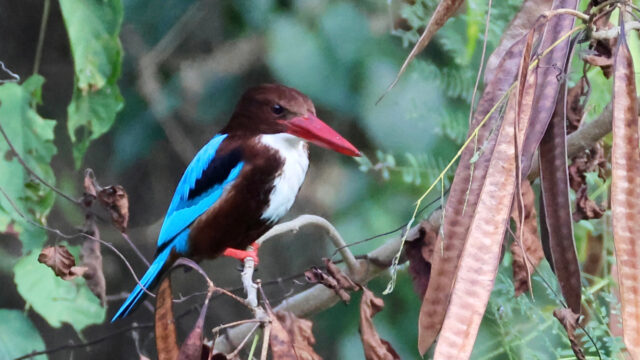
M151 266L149 266L147 272L144 274L142 279L140 279L140 284L136 285L136 288L133 289L127 300L125 300L124 304L122 304L120 310L118 310L113 319L111 319L111 322L126 317L131 311L138 307L138 305L144 298L144 289L151 291L158 280L160 280L163 270L165 269L165 265L167 265L167 260L169 259L171 250L175 249L178 253L184 253L186 251L188 236L189 229L185 229L171 241L172 243L169 246L164 248L156 256L156 258L153 260L153 263L151 263ZM144 289L140 285L144 286Z

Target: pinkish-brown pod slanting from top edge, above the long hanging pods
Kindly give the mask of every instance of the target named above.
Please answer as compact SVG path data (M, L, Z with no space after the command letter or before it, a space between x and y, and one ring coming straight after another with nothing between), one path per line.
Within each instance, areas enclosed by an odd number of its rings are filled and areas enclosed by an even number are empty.
M523 38L536 23L543 12L551 9L553 0L525 0L518 10L516 16L507 25L506 30L502 33L500 44L493 51L487 60L487 66L484 71L484 83L488 84L498 67L498 63L509 50L511 45Z

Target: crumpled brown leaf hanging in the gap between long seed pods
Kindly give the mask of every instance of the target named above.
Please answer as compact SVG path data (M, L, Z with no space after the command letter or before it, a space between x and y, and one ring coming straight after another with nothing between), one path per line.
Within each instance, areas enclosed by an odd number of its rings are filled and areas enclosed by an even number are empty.
M521 230L520 224L520 207L517 206L518 201L514 201L513 209L511 210L511 217L516 223L516 237L519 237L522 233L522 239L516 239L511 243L511 254L513 255L513 286L515 288L515 296L527 292L530 289L531 279L530 276L538 266L544 253L542 251L542 243L538 237L538 218L536 215L535 207L535 194L531 188L529 181L525 180L520 186L522 191L522 200L524 205L524 227ZM518 196L516 194L516 196ZM524 254L527 256L527 261L523 257L520 243L524 247Z

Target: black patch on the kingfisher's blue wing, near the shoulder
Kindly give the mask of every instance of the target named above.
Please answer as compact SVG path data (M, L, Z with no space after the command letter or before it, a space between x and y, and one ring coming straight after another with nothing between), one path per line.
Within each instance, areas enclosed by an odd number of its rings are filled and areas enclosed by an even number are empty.
M189 190L187 200L192 200L204 194L215 185L224 182L231 170L242 161L242 149L235 148L224 155L213 157L200 178L196 180L193 188Z

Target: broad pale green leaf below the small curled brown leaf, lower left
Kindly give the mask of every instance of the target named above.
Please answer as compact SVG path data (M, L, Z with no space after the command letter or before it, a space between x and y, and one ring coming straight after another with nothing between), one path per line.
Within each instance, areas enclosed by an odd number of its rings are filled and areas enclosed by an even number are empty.
M74 256L78 246L67 246ZM38 252L24 256L13 268L14 282L24 300L52 327L68 323L80 332L104 321L106 309L91 293L84 279L65 281L38 262Z

